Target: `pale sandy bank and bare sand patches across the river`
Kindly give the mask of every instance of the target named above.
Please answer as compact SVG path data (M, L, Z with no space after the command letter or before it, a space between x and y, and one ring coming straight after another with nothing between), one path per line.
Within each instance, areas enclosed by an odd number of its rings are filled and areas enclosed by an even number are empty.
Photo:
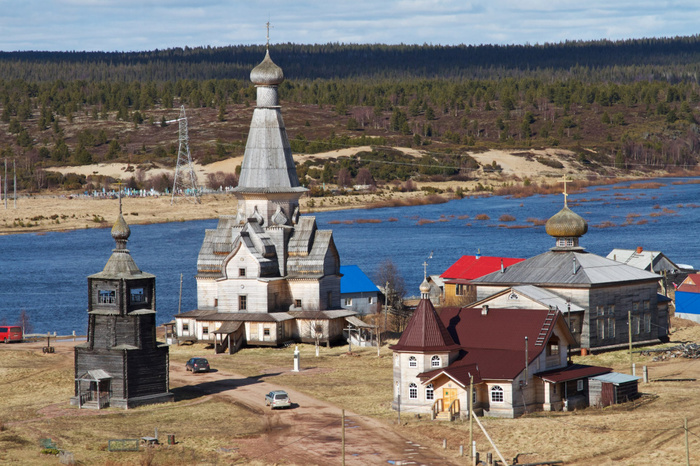
M331 151L322 154L314 154L315 158L336 158L348 156L369 147L346 148L338 151ZM419 156L420 153L414 149L399 148L404 152ZM514 151L513 151L514 152ZM496 162L502 167L500 173L473 174L470 181L448 181L448 182L421 182L416 183L420 189L422 186L432 186L445 191L442 194L445 198L452 198L454 190L461 188L466 193L474 193L477 185L499 187L504 182L515 182L515 180L530 179L535 183L555 184L564 174L574 178L585 173L578 172L570 162L567 161L568 153L557 151L563 163L563 168L551 168L542 165L535 160L535 156L552 157L555 151L552 149L531 151L532 157L518 155L508 151L491 150L481 153L470 154L482 165L491 165ZM312 157L309 155L295 155L298 160ZM241 158L232 158L209 165L195 164L195 171L203 183L209 173L234 172L237 165L240 165ZM63 167L56 171L63 173L74 172L84 175L99 174L113 178L127 179L132 173L127 171L126 164L94 164L83 167ZM156 168L147 172L148 176L158 174L160 171L168 169ZM170 169L172 171L172 169ZM332 198L307 198L301 199L302 213L308 214L324 210L339 210L364 208L370 204L384 202L391 199L406 200L411 198L425 197L425 192L414 191L408 193L391 192L384 189L379 193L366 193L358 195L334 196ZM171 203L168 196L148 197L148 198L128 198L124 200L124 216L130 224L164 223L173 221L201 220L218 218L221 215L235 215L237 202L231 194L212 194L202 197L201 204L195 204L188 200L178 200ZM105 228L111 227L116 220L119 211L116 199L94 199L86 197L71 197L69 195L39 195L20 196L16 202L13 199L0 204L0 234L14 234L26 232L62 231L83 228Z

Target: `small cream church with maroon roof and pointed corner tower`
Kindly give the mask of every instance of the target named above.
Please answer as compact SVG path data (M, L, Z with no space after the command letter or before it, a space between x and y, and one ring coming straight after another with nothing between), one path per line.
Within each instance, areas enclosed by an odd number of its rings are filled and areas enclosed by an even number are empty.
M450 420L476 414L517 417L586 405L588 377L610 368L569 364L576 344L554 306L446 307L421 301L394 352L394 409Z

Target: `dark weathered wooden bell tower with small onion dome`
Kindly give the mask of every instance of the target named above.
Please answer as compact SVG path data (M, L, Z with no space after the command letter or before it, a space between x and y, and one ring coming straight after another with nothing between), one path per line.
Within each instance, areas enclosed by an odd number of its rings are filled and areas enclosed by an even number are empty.
M168 346L156 340L156 277L142 272L126 243L120 212L112 228L116 248L102 272L88 277L87 342L75 347L75 396L81 408L173 401Z

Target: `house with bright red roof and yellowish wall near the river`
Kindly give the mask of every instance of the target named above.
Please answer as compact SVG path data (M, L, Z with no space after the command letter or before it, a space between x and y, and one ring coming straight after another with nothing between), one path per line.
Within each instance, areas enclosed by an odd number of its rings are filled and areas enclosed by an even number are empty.
M505 270L525 259L513 257L490 257L477 254L462 256L440 275L445 287L445 304L466 305L476 301L476 287L472 280L491 272Z

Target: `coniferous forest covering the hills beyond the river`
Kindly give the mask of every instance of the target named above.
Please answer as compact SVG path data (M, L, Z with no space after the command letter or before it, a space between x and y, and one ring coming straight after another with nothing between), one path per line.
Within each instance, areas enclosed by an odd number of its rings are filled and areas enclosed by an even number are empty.
M174 165L188 114L201 163L241 155L260 46L150 52L0 52L0 158L18 185L74 190L110 180L48 172L120 161ZM280 98L296 153L372 146L338 164L309 160L306 183L348 177L464 177L470 151L561 148L588 168L692 168L700 147L700 36L544 45L280 44ZM389 149L425 151L416 160ZM391 162L390 164L381 163ZM131 177L132 187L168 185Z

